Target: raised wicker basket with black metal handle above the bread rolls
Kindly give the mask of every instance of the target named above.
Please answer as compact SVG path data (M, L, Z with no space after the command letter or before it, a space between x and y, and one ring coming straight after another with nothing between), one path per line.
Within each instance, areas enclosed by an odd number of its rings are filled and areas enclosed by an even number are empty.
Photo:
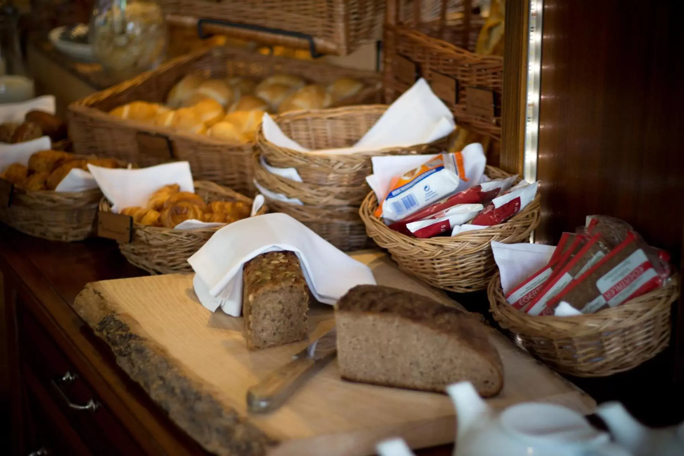
M347 55L364 44L382 38L384 0L157 0L164 13L172 16L213 18L232 21L230 35L288 47L310 46L317 51ZM246 26L296 32L285 35Z

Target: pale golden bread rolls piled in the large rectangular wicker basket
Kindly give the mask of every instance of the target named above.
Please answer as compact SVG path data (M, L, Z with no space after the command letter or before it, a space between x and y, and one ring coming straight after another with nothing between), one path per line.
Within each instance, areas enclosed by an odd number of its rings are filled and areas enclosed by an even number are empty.
M174 85L166 105L133 101L109 113L231 144L248 144L256 139L264 112L343 105L363 88L363 83L350 78L317 85L293 75L272 75L257 83L247 77L207 79L191 74Z

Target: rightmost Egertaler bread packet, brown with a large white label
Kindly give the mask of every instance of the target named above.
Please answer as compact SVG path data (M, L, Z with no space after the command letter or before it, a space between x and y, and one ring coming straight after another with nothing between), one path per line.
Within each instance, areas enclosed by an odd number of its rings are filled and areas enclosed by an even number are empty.
M551 298L549 311L555 311L565 301L582 313L597 312L662 286L663 278L653 267L644 245L635 232L627 233L620 245Z

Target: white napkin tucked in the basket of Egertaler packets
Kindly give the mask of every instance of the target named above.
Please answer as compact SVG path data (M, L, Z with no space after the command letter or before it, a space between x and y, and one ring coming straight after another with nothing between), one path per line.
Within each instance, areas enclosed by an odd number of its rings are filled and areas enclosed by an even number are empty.
M551 260L555 246L532 243L504 244L492 241L492 253L501 273L505 295L544 267Z

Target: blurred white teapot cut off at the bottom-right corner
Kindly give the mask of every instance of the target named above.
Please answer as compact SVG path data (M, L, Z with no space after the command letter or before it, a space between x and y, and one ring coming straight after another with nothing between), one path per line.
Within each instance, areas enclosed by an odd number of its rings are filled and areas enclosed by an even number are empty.
M607 402L596 409L616 442L634 456L684 455L684 423L663 429L650 429L625 410L618 402Z

